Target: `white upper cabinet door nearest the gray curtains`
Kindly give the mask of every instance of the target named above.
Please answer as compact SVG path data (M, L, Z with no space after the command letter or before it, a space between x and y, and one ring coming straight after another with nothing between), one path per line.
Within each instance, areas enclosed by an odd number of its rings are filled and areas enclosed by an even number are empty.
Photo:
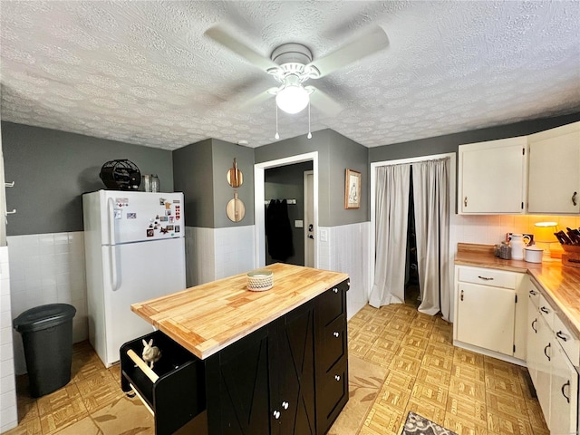
M524 213L526 149L526 137L459 145L459 213Z

